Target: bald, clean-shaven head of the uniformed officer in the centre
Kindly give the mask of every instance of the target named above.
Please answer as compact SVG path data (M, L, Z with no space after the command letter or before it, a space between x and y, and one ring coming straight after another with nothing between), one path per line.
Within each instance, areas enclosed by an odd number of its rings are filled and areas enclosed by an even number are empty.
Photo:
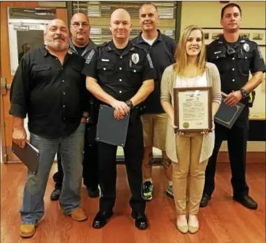
M131 16L123 8L115 10L110 18L110 30L113 38L119 40L128 40L131 32Z

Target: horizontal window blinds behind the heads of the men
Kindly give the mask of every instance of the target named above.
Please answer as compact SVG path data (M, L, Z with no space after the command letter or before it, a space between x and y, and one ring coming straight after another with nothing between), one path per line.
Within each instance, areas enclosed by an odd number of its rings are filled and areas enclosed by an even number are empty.
M108 42L112 39L110 31L110 15L117 8L126 9L131 15L133 24L131 38L137 36L141 31L139 22L139 9L143 1L72 1L73 14L83 12L90 19L90 37L96 44ZM175 39L176 36L176 1L154 1L152 2L159 13L158 28L162 33Z

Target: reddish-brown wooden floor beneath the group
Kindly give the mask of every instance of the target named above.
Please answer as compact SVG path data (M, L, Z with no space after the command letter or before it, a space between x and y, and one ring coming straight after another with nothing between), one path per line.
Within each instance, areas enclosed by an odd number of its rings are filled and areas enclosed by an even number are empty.
M52 173L56 171L53 165ZM217 165L216 190L208 207L200 209L198 233L183 235L175 227L174 201L166 196L163 167L154 167L153 200L147 203L150 227L147 231L135 228L128 206L129 190L124 165L117 166L117 203L115 216L102 229L92 228L98 210L98 199L90 199L85 187L81 190L81 205L89 219L73 221L60 212L57 201L50 201L53 181L50 175L44 196L45 215L32 238L19 237L19 208L26 178L22 164L1 164L1 243L174 243L174 242L265 242L265 163L247 165L250 194L258 201L257 210L248 210L231 198L230 167Z

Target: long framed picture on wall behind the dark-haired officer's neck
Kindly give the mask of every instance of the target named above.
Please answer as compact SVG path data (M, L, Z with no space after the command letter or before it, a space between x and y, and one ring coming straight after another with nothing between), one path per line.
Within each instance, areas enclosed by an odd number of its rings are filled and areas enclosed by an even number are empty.
M210 44L213 40L222 35L222 28L202 28L205 44ZM240 35L253 42L256 42L260 47L265 47L266 29L265 28L240 28Z

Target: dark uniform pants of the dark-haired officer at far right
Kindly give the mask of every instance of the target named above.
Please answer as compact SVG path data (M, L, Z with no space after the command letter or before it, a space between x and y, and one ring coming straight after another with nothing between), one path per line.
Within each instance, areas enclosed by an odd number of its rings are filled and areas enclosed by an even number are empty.
M248 109L248 108L247 108ZM249 115L246 110L242 112L247 115L242 116L241 126L234 124L231 129L215 123L215 147L213 155L208 160L206 167L206 178L203 194L211 196L215 190L215 169L219 148L223 140L228 143L228 155L231 165L231 184L234 196L249 194L249 187L246 182L246 153L247 139L249 133Z

